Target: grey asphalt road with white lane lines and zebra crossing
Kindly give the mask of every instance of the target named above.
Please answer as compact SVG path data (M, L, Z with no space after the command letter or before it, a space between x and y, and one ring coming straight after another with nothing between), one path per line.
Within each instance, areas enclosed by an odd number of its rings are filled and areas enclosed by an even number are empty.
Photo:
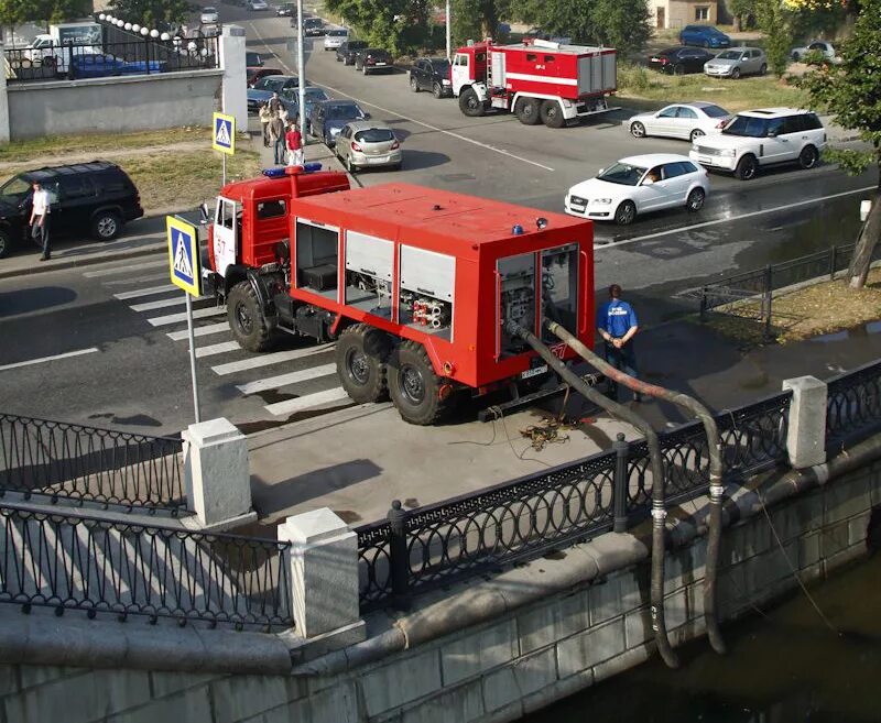
M249 50L276 53L283 69L294 68L287 19L231 6L221 15L246 18ZM358 99L404 139L404 169L361 173L363 185L394 178L561 211L566 189L611 161L687 152L686 143L631 139L626 112L563 130L509 116L467 119L454 100L412 94L403 74L365 78L342 67L320 40L307 76ZM713 184L697 215L650 216L626 230L597 226L596 287L622 284L643 324L682 308L676 295L705 280L852 240L859 191L874 177L826 166L750 183L714 176ZM133 235L145 230L133 227ZM185 427L189 365L185 324L174 316L184 306L166 280L157 254L0 281L0 410L153 432ZM208 299L196 307L204 417L224 415L253 431L349 404L337 392L331 350L286 340L281 357L249 354L231 343L222 309Z

